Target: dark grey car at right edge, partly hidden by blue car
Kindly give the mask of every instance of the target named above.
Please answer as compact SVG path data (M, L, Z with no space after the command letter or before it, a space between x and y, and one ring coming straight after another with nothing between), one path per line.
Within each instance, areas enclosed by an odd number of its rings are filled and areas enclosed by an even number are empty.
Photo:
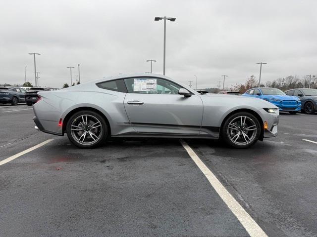
M302 112L309 115L317 112L317 89L291 89L285 91L285 94L296 96L301 100Z

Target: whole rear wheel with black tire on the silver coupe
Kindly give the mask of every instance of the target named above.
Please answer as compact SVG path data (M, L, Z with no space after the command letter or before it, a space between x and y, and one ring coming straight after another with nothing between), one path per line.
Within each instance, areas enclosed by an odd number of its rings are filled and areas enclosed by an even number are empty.
M88 121L88 122L86 122ZM96 124L96 121L100 122ZM81 130L71 130L73 129L81 129ZM75 113L71 116L66 124L66 133L68 139L77 147L83 149L91 149L100 146L101 144L106 142L106 138L108 136L109 127L105 118L103 118L100 114L90 111L83 110ZM86 135L84 135L86 133ZM92 135L95 137L93 137ZM80 138L82 137L83 138ZM79 138L79 139L78 139ZM98 140L96 141L96 139ZM86 141L85 141L86 139Z

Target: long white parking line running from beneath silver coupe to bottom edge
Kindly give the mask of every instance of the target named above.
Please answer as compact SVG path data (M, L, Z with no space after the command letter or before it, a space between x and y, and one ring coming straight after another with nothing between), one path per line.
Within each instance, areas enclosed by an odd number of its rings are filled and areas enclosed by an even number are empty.
M239 202L231 196L226 188L220 183L220 181L214 176L211 170L204 164L204 162L196 155L191 147L183 140L181 144L187 151L188 155L194 160L196 165L200 168L203 174L206 176L211 186L226 203L233 214L238 218L240 223L246 229L251 237L267 237L261 227L252 219L252 217L246 212L246 210L239 204Z

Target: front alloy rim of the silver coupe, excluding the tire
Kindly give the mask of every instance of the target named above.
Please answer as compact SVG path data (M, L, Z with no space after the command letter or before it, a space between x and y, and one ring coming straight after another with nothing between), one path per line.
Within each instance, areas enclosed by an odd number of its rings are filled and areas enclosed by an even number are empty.
M257 124L248 116L233 118L228 125L227 134L231 142L236 145L251 143L257 135Z

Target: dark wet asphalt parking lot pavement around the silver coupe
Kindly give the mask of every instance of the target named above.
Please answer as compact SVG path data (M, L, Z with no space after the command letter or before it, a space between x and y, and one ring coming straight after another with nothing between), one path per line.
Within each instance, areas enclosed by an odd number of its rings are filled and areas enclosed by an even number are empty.
M2 110L22 132L4 130L0 161L54 140L0 165L1 237L249 236L179 140L81 150L34 130L32 110ZM317 144L303 140L317 141L316 118L281 115L279 135L247 150L185 142L268 236L317 236Z

